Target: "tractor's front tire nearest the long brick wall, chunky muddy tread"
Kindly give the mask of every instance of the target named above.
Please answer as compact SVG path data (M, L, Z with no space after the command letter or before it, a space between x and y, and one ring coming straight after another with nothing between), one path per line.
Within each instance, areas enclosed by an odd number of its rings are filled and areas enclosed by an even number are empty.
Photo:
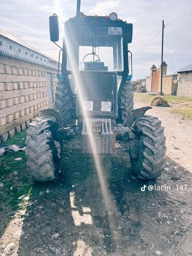
M27 166L35 181L57 179L61 165L60 143L54 140L58 123L54 117L37 117L29 124L26 135Z

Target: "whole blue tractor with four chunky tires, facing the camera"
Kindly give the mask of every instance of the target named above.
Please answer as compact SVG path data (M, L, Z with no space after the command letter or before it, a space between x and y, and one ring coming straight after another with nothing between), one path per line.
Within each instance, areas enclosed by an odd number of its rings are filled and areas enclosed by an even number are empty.
M50 39L59 41L58 16L49 17ZM133 26L117 17L86 16L77 0L76 16L64 23L61 73L54 109L29 125L26 157L34 180L50 181L60 170L63 138L81 134L83 154L114 154L116 137L129 141L133 172L154 179L163 169L166 145L161 122L133 110Z

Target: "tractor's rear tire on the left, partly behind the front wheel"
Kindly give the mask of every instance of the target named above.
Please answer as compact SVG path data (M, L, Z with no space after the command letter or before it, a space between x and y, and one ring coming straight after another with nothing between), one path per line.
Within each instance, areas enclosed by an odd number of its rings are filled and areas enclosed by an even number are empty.
M62 115L63 126L72 125L75 119L72 118L72 101L68 93L66 84L58 82L56 87L55 109Z

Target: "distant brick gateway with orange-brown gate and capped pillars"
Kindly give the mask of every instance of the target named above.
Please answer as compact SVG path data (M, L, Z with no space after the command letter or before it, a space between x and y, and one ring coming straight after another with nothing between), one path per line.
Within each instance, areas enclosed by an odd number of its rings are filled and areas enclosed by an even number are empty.
M162 63L162 92L167 95L176 95L177 89L177 75L167 75L167 63ZM159 68L153 64L150 68L150 76L146 77L147 91L160 92L161 91L161 65Z

